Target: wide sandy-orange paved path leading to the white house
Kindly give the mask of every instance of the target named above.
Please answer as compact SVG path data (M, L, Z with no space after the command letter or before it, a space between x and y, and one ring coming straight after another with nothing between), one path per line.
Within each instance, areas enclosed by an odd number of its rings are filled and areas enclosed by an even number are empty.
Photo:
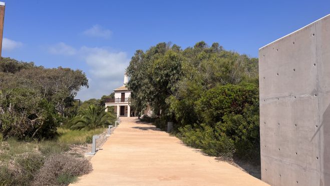
M122 120L91 159L94 170L71 185L267 185L153 125Z

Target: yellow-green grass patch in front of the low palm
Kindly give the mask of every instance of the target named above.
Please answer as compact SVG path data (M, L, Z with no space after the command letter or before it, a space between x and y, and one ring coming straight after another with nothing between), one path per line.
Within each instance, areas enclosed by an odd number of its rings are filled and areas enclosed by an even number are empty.
M93 130L71 130L59 128L58 132L60 133L60 137L58 138L58 141L65 144L85 144L88 136L101 134L104 130L104 128L97 128Z

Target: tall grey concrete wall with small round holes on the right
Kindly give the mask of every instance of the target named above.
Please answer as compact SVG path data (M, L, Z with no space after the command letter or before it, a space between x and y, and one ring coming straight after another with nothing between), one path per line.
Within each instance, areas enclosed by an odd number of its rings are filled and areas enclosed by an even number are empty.
M259 49L261 179L330 185L330 15Z

